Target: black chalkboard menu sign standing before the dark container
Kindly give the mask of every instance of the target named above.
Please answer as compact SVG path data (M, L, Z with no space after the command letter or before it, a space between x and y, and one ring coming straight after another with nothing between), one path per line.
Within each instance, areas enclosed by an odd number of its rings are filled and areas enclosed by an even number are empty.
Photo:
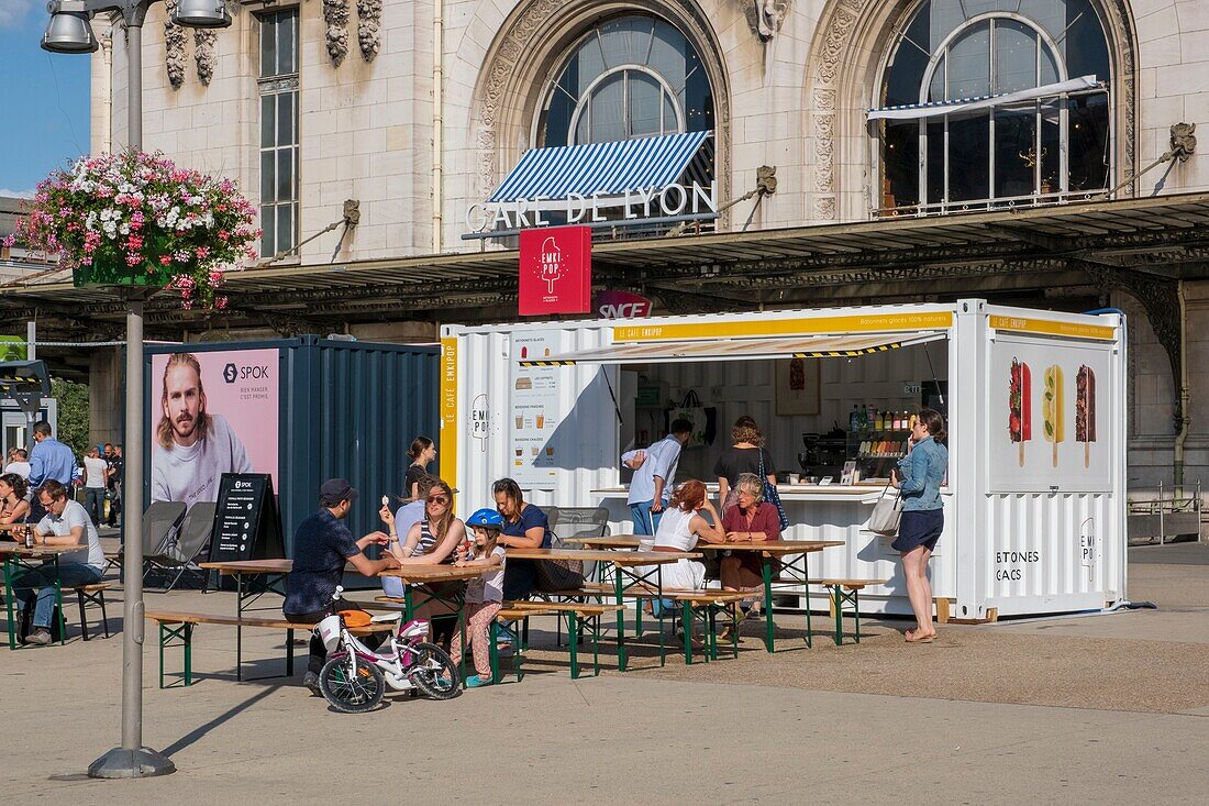
M285 557L282 519L268 473L222 473L210 539L210 562Z

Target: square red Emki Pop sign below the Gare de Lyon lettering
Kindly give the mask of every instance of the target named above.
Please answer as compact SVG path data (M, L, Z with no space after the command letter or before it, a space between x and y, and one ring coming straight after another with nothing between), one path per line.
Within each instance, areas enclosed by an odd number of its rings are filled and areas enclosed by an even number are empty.
M592 295L591 228L522 230L520 241L520 315L588 313Z

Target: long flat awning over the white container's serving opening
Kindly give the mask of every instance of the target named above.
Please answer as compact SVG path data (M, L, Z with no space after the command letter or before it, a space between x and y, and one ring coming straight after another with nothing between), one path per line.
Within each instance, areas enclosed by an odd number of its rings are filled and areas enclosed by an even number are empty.
M571 364L670 364L692 361L746 361L750 358L843 358L885 352L898 347L943 339L944 333L815 335L777 339L700 339L619 344L560 353L540 361L522 361L521 367L567 367Z

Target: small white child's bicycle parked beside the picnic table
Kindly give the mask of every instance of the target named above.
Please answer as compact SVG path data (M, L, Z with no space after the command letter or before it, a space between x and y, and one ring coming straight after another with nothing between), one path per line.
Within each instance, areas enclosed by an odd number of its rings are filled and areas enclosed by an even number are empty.
M343 594L337 587L332 608ZM401 612L372 616L370 623L398 622L389 640L372 651L345 626L339 612L331 612L316 624L329 657L319 673L319 690L336 710L357 714L382 702L386 686L395 691L418 689L433 700L452 700L458 695L461 675L449 654L424 640L428 622L413 618L403 623Z

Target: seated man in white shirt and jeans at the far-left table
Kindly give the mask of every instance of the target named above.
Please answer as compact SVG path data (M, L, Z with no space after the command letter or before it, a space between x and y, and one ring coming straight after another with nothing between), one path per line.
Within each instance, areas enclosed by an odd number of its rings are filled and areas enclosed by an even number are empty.
M25 643L46 646L51 643L51 618L54 615L54 580L58 578L64 588L99 582L105 571L105 552L88 512L68 497L68 490L60 482L48 479L35 495L46 516L35 526L18 526L13 537L23 542L29 529L35 546L80 546L77 552L60 554L58 565L44 565L13 580L12 595L18 608L27 606L35 594L37 597L33 629Z

